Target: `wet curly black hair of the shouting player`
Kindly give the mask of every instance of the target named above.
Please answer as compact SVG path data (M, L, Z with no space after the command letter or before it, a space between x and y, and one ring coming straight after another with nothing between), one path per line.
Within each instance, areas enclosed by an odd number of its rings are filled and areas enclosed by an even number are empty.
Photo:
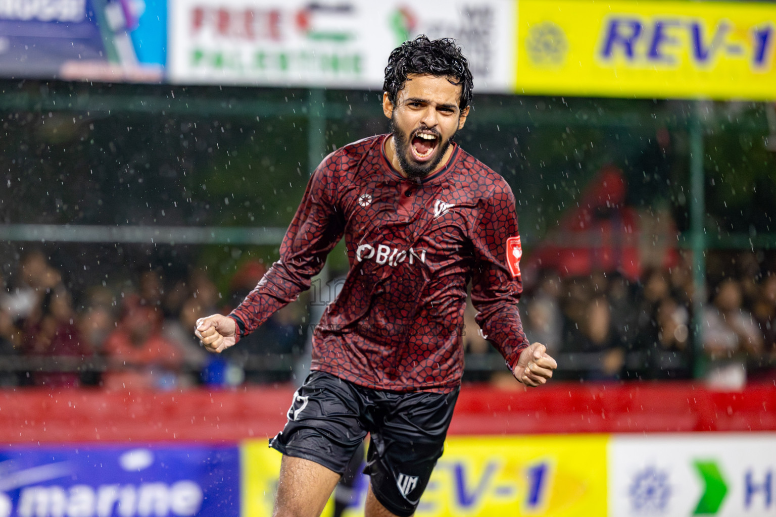
M461 84L459 108L464 109L472 102L474 82L469 71L469 62L452 38L429 40L421 34L414 40L405 41L393 49L388 57L383 91L388 92L390 102L396 104L396 96L404 88L409 74L431 74L448 78L451 84ZM452 81L450 78L455 78Z

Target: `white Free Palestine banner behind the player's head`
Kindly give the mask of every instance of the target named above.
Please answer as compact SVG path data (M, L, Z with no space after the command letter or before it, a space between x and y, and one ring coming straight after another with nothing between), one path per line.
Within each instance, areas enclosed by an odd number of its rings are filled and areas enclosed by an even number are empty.
M168 77L178 84L371 88L417 34L458 40L476 91L511 91L513 0L169 0Z

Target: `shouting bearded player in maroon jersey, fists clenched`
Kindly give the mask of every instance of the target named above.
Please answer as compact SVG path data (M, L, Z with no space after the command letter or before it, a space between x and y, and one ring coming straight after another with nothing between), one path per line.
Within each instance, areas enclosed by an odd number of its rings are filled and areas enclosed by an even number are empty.
M367 433L367 517L414 513L458 397L469 281L477 322L518 381L544 384L557 367L522 330L511 189L452 143L472 85L453 40L418 36L393 50L383 85L391 133L327 156L280 259L230 315L197 322L208 350L234 345L310 288L345 236L350 271L314 331L312 373L270 441L283 453L276 517L320 515Z

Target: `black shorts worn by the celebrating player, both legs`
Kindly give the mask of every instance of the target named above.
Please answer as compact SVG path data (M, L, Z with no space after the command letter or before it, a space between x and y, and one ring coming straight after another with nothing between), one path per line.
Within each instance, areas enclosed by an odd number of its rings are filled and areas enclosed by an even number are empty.
M269 446L342 474L370 433L364 474L380 503L412 515L442 456L458 390L383 391L314 371L293 395L288 422Z

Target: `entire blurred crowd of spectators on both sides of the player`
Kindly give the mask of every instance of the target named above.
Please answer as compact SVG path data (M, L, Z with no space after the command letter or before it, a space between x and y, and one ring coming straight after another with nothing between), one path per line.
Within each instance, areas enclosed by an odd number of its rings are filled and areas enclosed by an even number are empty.
M539 270L527 285L521 315L528 339L545 343L558 358L556 377L704 377L733 389L776 380L776 271L767 271L754 253L728 257L738 267L709 274L698 304L691 256L677 257L670 267L637 278ZM229 312L264 273L263 264L244 263L222 295L206 271L170 279L151 269L137 271L123 288L97 285L74 298L47 256L28 250L16 272L2 279L0 384L169 390L295 381L310 318L320 312L309 300L283 308L220 355L206 353L192 333L197 318ZM469 304L465 380L514 384L474 315Z

